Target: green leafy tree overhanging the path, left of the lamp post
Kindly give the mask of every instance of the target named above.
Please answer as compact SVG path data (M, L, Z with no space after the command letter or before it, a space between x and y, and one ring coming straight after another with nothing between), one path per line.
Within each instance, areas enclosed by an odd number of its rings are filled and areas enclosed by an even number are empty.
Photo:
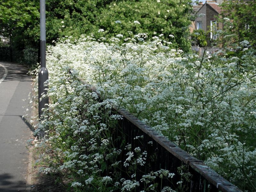
M26 32L31 23L39 19L39 1L0 0L0 35L10 39L10 59L20 61L22 50L35 45L34 38ZM31 44L33 42L33 44Z

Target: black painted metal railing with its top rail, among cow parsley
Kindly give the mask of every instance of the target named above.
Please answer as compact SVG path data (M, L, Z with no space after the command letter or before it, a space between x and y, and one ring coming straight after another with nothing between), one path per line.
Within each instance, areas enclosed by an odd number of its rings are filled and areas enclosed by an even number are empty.
M80 81L88 85L88 88L93 92L96 92L95 88L92 88L81 78ZM120 146L131 144L132 151L138 147L140 147L141 151L147 151L145 165L136 166L137 181L140 181L144 174L165 169L174 173L175 176L171 182L169 180L162 180L163 186L170 186L176 189L180 187L179 181L182 180L179 167L183 167L182 172L188 173L187 175L189 176L183 179L181 183L182 189L179 191L242 192L235 185L204 164L203 161L191 156L125 109L117 108L116 106L113 106L113 108L115 109L114 113L123 116L123 119L119 120L118 126L111 130L115 147L121 149L122 147ZM122 143L123 141L125 141L125 144ZM126 153L122 151L120 160L124 162L126 158ZM121 164L121 170L121 176L127 179L127 170L123 164ZM156 180L156 182L159 181ZM140 190L138 188L138 191Z

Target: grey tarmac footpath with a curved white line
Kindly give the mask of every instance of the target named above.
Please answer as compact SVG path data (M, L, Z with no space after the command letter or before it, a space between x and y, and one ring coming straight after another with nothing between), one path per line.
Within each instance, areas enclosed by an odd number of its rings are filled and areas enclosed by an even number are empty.
M29 112L32 80L26 73L22 65L0 62L0 192L30 189L26 141L32 130L22 116Z

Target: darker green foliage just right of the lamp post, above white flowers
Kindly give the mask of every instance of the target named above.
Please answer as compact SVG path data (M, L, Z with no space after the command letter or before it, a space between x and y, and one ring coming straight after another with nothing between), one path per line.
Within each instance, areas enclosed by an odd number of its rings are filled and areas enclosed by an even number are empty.
M47 42L63 36L80 37L97 28L100 11L113 0L50 0L46 3ZM96 30L96 29L95 29Z

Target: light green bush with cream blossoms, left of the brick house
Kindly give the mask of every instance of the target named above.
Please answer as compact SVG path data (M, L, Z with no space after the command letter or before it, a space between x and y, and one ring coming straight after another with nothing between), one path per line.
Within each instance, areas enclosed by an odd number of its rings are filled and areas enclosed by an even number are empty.
M191 7L190 0L115 2L102 11L99 26L107 37L117 34L128 37L131 32L132 35L147 33L148 37L163 34L164 39L172 40L176 47L185 47L183 32L190 24Z

